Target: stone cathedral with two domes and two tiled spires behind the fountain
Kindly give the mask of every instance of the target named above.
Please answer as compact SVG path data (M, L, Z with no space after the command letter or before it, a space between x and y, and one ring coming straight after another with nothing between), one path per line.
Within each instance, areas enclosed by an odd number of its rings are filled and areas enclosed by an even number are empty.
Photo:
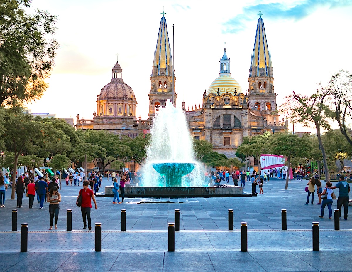
M186 114L191 135L207 140L216 152L228 158L235 157L235 149L245 136L259 135L288 129L288 120L280 120L274 92L271 54L266 41L263 18L260 16L251 55L248 91L243 91L231 76L230 58L226 48L220 58L219 76L204 92L202 105L182 109ZM215 64L214 64L215 65ZM107 130L135 138L150 132L152 118L166 101L176 105L174 68L166 19L160 21L154 52L151 88L149 92L149 118L136 116L137 99L130 86L122 79L122 67L117 62L112 68L112 79L97 96L97 110L93 119L77 115L77 129Z

